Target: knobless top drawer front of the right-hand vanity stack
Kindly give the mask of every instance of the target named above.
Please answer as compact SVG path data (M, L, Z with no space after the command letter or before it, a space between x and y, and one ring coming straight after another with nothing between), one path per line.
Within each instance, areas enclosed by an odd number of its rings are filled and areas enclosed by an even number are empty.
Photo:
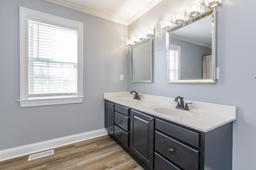
M156 119L156 129L199 148L199 133Z

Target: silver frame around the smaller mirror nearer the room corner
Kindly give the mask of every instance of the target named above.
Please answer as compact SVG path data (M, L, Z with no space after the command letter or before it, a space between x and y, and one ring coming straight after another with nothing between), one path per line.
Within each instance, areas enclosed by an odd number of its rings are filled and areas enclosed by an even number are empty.
M134 47L138 47L139 45L142 45L144 43L147 43L148 41L150 41L150 80L137 80L135 81L133 79L133 64L132 64L132 49ZM131 82L139 82L139 83L152 83L153 82L153 38L150 37L148 39L145 39L135 45L133 45L132 47L130 47L130 61L131 61Z

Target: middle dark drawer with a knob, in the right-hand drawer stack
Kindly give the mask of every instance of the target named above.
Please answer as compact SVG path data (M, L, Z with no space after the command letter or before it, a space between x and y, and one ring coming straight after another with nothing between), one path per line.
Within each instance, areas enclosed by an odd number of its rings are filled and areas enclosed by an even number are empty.
M170 150L173 149L173 153ZM198 170L199 151L155 131L155 150L185 170Z

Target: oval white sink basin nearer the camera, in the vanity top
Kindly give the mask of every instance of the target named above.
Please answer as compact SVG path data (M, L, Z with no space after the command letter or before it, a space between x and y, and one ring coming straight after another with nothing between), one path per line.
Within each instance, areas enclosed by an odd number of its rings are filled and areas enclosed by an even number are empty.
M152 106L151 109L155 112L175 116L175 117L192 117L193 114L186 110L176 109L175 106Z

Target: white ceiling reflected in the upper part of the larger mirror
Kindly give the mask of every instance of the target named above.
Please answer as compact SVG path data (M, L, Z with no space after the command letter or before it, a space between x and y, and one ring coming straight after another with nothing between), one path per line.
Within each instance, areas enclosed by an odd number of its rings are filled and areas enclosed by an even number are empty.
M207 16L170 33L201 44L212 46L212 16Z

